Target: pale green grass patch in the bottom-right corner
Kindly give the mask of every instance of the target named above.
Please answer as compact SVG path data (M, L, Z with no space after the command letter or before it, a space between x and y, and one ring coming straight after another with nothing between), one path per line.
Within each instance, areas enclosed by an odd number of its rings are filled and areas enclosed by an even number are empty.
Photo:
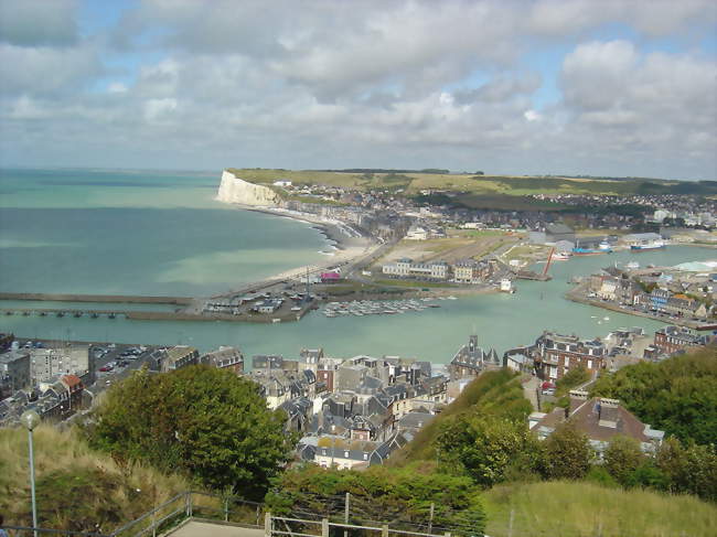
M707 537L717 507L693 496L553 481L499 485L483 495L491 537Z

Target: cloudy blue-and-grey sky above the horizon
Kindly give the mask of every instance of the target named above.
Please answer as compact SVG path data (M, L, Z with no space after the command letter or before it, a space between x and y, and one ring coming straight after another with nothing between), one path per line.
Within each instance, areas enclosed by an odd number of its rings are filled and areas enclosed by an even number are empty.
M717 179L715 0L0 0L0 167Z

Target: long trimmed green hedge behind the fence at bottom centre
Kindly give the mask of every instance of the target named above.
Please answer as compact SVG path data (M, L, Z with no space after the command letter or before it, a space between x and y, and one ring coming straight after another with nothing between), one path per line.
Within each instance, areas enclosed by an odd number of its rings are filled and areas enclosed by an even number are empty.
M285 472L267 494L274 513L310 513L343 520L345 494L351 494L355 523L390 520L393 528L425 528L434 504L434 533L482 535L483 507L470 479L417 466L372 466L365 472L310 465Z

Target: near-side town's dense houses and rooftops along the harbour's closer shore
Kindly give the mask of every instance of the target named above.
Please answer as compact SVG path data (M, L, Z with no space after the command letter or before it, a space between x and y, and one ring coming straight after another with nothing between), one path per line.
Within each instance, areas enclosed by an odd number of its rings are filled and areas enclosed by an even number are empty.
M568 372L586 372L588 382L570 393L585 399L601 374L640 362L659 363L714 343L714 335L674 325L654 334L620 329L595 340L546 331L532 345L499 353L483 348L475 334L468 343L456 342L456 353L443 363L430 363L386 355L334 357L321 346L299 350L295 357L249 358L227 346L200 353L188 345L83 344L1 334L0 427L17 425L26 410L50 423L71 423L132 372L160 374L203 364L256 383L267 408L285 412L287 433L298 434L297 460L324 468L366 468L385 462L488 370L504 367L522 375L534 406L531 427L538 427L545 438L545 423L554 428L555 421L544 410L554 407L556 384ZM614 406L624 419L635 419L619 402ZM662 438L660 431L645 434L651 442ZM638 439L645 441L643 436Z

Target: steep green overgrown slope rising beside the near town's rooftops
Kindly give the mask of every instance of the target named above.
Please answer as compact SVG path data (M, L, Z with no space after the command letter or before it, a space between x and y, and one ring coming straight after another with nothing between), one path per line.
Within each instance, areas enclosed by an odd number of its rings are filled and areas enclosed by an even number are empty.
M533 408L523 396L520 376L509 369L485 372L470 383L461 395L438 417L424 427L389 463L400 465L406 460L436 460L436 440L443 421L463 412L525 421Z

